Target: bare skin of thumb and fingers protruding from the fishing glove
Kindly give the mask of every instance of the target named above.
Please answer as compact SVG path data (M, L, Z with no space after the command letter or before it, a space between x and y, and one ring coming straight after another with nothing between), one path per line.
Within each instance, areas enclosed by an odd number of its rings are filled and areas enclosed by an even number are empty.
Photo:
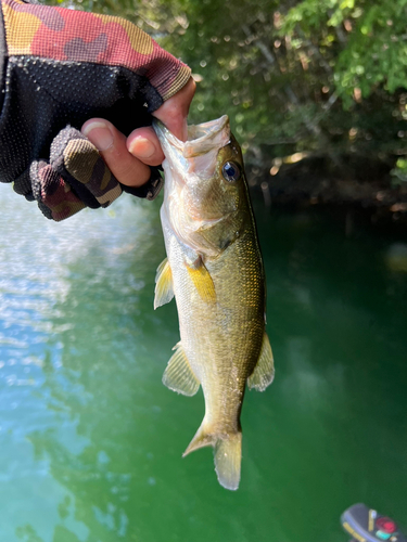
M187 116L195 87L191 77L181 90L152 114L181 141L187 139ZM158 166L164 160L152 127L137 128L126 139L109 120L91 118L84 124L81 132L98 149L115 178L127 186L144 184L151 176L149 166Z

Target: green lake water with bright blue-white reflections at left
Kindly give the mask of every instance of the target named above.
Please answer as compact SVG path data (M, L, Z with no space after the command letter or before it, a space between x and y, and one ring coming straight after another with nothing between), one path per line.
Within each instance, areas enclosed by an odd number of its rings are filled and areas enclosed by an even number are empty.
M0 201L0 542L346 541L356 502L407 526L407 238L258 205L277 373L228 492L209 449L181 459L202 393L161 383L160 203L55 224Z

